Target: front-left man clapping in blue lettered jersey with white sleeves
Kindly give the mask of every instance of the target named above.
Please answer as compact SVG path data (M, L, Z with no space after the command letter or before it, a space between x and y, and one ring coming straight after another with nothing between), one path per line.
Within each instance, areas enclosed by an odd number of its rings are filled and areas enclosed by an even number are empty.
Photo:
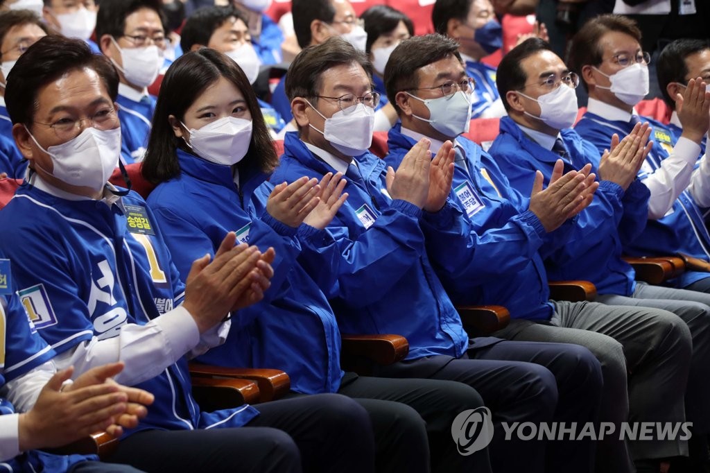
M239 330L240 310L268 288L273 252L235 246L230 233L183 284L146 203L107 185L121 148L109 60L45 36L13 74L8 111L32 174L0 213L0 254L15 262L21 302L60 369L124 361L116 381L156 399L109 460L151 471L371 471L370 420L345 396L200 410L187 357L223 342L231 315Z

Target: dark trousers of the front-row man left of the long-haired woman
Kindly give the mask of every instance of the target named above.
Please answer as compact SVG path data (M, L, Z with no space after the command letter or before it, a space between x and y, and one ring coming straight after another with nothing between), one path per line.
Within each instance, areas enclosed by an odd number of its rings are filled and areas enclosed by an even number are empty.
M262 403L246 427L146 430L121 440L111 462L146 472L372 472L368 413L335 394Z

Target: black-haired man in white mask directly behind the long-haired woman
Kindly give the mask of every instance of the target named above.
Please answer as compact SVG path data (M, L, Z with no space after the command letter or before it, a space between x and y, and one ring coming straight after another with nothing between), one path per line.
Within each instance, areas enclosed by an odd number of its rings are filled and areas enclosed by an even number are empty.
M246 18L231 6L211 6L199 9L187 18L180 32L183 51L211 48L224 53L244 71L249 84L256 82L261 59L250 41ZM285 126L280 114L271 104L257 99L261 114L273 136Z

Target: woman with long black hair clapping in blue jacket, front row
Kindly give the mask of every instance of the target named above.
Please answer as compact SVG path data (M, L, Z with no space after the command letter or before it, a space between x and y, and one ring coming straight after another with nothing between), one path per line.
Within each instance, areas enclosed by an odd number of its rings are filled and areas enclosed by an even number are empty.
M340 369L335 316L297 256L300 239L324 238L322 229L346 199L345 183L329 174L320 185L304 177L274 186L268 177L277 163L256 95L234 61L204 48L173 63L160 89L143 175L158 184L148 205L178 271L187 276L194 256L214 254L230 231L275 250L275 277L263 301L241 311L226 343L202 360L282 369L297 393L360 398L381 471L429 471L430 452L437 471L490 471L485 450L461 456L449 437L458 413L483 405L473 388Z

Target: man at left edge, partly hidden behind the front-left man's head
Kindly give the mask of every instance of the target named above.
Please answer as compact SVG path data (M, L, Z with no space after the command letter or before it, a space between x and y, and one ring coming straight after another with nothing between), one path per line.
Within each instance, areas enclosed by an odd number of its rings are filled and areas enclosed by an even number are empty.
M18 58L48 29L37 13L27 10L0 12L0 176L22 179L27 163L12 138L12 122L5 108L7 77Z

